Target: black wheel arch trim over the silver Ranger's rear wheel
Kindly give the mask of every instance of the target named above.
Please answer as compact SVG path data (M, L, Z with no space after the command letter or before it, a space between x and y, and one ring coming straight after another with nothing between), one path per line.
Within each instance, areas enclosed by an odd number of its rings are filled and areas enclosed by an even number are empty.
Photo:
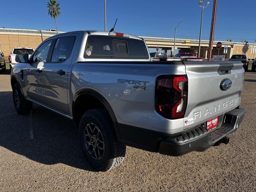
M116 132L116 137L118 139L118 141L121 141L122 138L121 138L121 134L120 134L120 130L119 130L119 126L118 126L118 122L116 120L116 115L113 111L113 109L111 108L110 104L108 103L108 101L104 98L104 96L102 96L102 94L100 94L99 92L95 91L95 90L92 90L90 88L84 88L84 89L81 89L81 90L78 90L75 94L74 94L74 98L73 98L73 103L72 103L72 116L73 116L73 119L75 120L75 117L74 117L74 104L76 102L76 99L83 95L83 94L86 94L86 95L90 95L90 96L94 96L95 98L97 98L98 100L100 100L100 102L104 105L104 107L106 108L106 110L108 111L108 114L110 115L110 118L113 122L113 126L114 126L114 130Z

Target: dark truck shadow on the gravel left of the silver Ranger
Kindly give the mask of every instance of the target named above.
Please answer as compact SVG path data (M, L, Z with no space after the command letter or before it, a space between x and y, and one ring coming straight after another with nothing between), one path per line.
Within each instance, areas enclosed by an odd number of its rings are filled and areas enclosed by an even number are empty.
M94 171L82 154L72 120L35 104L31 114L22 116L14 109L12 92L0 92L0 98L0 146L42 164Z

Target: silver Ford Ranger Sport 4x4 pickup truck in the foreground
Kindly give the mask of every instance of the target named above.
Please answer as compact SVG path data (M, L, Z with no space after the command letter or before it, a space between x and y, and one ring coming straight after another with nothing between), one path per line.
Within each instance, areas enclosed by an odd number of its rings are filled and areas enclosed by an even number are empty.
M100 171L120 165L126 146L180 156L227 144L245 113L241 62L151 62L137 36L58 34L16 61L16 111L29 114L36 103L73 119L85 157Z

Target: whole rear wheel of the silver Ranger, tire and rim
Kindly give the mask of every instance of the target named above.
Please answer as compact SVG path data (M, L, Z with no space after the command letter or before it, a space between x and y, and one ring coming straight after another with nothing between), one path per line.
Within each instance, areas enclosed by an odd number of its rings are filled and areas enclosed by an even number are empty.
M78 132L82 151L94 169L107 171L124 160L126 146L118 142L106 110L99 108L85 112Z

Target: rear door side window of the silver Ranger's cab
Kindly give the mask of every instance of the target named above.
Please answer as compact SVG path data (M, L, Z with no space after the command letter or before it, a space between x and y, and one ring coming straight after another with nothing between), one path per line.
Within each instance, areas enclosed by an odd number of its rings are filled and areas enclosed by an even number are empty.
M76 36L58 38L53 52L51 62L64 62L70 57Z

